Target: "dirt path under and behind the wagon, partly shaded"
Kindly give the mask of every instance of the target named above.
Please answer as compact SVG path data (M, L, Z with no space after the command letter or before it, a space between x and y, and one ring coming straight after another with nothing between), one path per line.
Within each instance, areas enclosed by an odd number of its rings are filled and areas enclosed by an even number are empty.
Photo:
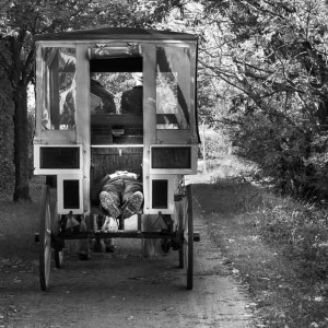
M79 261L68 254L38 285L38 261L0 259L0 327L255 327L250 301L229 274L195 201L194 290L177 268L178 255L145 259L140 241L117 241L115 254Z

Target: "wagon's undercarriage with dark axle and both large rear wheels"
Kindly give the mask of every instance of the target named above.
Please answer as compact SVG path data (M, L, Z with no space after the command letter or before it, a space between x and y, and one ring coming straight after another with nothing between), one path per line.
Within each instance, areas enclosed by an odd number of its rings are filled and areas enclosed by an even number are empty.
M163 255L171 249L178 251L178 266L186 271L186 286L189 290L192 289L194 242L199 242L200 237L198 233L194 233L191 186L186 187L186 195L177 195L175 199L178 209L177 224L174 224L171 215L165 215L165 219L163 219L162 214L159 213L157 216L157 219L163 220L166 229L142 231L142 214L138 214L138 230L124 230L122 220L118 224L118 230L103 231L101 230L99 222L97 222L99 214L92 214L87 216L84 231L80 231L81 225L77 226L74 231L74 229L62 229L63 224L61 220L58 220L58 215L51 213L50 189L49 186L44 186L42 190L40 229L39 233L35 236L35 241L40 244L39 278L42 290L46 291L49 288L51 255L54 255L56 267L59 269L62 268L66 241L79 239L91 242L113 238L160 239ZM89 259L89 257L81 256L80 259Z

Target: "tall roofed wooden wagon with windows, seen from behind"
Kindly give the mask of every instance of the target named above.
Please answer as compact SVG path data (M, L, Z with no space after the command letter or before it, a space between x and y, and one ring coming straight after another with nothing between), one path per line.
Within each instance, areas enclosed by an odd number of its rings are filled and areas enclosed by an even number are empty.
M199 236L185 175L197 172L196 73L190 34L96 28L37 36L34 173L47 181L38 232L42 290L49 286L52 254L62 266L67 239L113 238L160 239L164 251L177 250L192 288ZM139 96L124 101L136 77ZM110 213L97 201L98 181L116 172L142 183L133 231L125 230L125 211L115 218L117 229L102 225Z

